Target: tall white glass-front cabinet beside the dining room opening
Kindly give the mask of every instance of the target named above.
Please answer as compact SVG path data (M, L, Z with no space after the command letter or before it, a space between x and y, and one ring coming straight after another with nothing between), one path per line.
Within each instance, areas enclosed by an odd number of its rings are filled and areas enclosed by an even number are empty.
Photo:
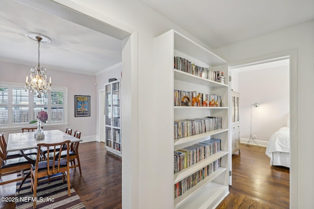
M121 156L121 81L105 84L105 144Z

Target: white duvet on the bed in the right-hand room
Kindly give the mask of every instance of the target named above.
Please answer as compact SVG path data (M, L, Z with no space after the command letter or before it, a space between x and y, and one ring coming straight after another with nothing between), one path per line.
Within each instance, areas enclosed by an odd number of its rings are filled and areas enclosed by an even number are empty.
M289 128L282 127L277 132L273 133L269 139L266 155L272 159L273 152L290 152Z

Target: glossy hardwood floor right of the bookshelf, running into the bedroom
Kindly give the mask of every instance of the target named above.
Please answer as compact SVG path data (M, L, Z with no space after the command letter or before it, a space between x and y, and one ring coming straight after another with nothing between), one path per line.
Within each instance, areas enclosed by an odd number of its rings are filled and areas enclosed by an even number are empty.
M288 209L289 168L270 165L265 148L240 150L232 156L230 194L217 209Z

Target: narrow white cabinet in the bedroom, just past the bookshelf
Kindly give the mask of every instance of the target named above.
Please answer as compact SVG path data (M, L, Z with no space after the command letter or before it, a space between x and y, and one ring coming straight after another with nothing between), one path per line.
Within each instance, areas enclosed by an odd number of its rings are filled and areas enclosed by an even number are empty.
M236 151L240 153L240 120L239 120L240 94L232 92L232 154Z

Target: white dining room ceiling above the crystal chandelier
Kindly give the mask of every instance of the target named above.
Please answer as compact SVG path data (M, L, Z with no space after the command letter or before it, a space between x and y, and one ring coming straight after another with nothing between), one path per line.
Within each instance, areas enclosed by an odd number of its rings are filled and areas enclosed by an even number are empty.
M26 37L36 32L52 40L40 45L40 65L47 70L95 75L121 62L121 40L14 0L0 0L0 31L2 61L37 66L37 42Z

